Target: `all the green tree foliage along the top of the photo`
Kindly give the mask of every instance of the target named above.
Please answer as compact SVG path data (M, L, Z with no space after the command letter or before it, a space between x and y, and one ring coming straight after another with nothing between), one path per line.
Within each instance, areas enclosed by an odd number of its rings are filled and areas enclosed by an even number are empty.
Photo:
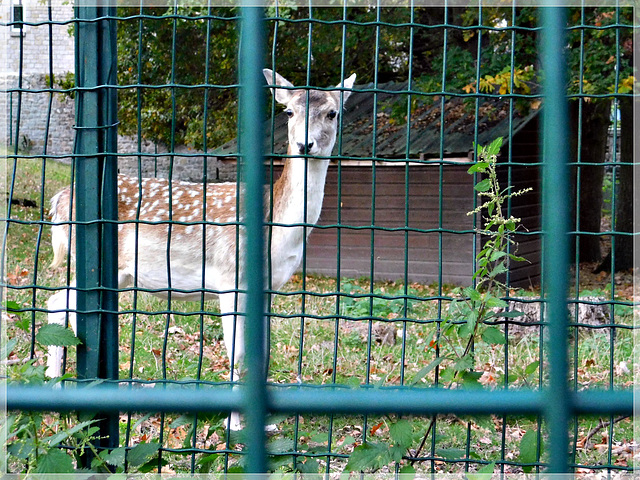
M608 27L618 20L630 25L632 9L622 8L619 15L607 7L570 12L569 25L578 26L569 30L572 48L567 49L572 92L630 92L632 28ZM477 8L451 11L447 22L467 28L448 29L446 42L437 27L445 23L443 9L309 11L284 5L266 13L267 44L273 48L265 52L265 65L295 85L337 84L344 62L345 74L357 73L361 83L404 81L411 65L413 89L425 93L539 91L543 72L534 7L483 7L481 17ZM118 25L118 81L128 86L119 91L122 133L198 149L218 147L237 135L237 14L236 8L198 6L119 8L126 20ZM310 18L313 23L306 21ZM590 28L581 28L583 21ZM580 78L573 72L581 65ZM60 86L72 86L71 80L62 79ZM416 96L410 108L432 98ZM522 109L531 101L518 98L516 103ZM391 119L403 123L406 108L407 102L394 103Z

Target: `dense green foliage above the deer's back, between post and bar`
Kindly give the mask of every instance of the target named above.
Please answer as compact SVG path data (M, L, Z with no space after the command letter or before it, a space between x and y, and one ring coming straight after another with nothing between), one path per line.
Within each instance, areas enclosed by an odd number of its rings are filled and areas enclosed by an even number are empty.
M235 137L235 9L118 10L132 17L118 25L118 82L131 86L119 95L121 133L196 148L212 148ZM136 18L140 13L151 18Z

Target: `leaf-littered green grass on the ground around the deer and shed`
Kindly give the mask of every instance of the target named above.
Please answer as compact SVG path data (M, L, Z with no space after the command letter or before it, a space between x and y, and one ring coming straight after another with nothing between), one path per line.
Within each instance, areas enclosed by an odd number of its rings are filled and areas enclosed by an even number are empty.
M67 165L49 161L44 170L43 190L41 160L18 159L16 165L14 170L13 162L8 163L5 184L13 185L13 198L30 200L36 207L12 205L10 210L6 240L7 300L24 311L5 316L6 337L17 341L10 356L14 363L8 369L9 376L12 369L20 367L23 359L29 358L32 324L37 329L46 322L46 314L37 311L46 308L50 296L50 292L42 287L60 287L65 283L66 267L56 271L48 268L52 258L50 228L42 222L48 220L46 202L62 186L68 185L70 178ZM303 287L305 292L301 293ZM271 382L363 385L368 378L372 385L392 386L415 381L426 388L435 382L436 370L425 374L424 369L436 358L436 347L441 355L446 354L447 349L460 348L462 339L455 334L448 343L441 341L437 345L439 312L448 307L448 301L440 300L440 296L452 295L451 286L439 289L437 285L405 286L392 282L375 282L372 286L367 279L341 279L339 291L343 295L338 296L337 290L335 279L310 276L303 281L296 275L285 286L283 294L274 296ZM610 297L606 291L600 294L604 298ZM511 295L539 298L536 291L511 292ZM228 381L229 362L222 343L216 301L208 301L203 306L197 302L172 302L174 313L167 315L159 313L167 309L166 302L146 294L134 296L126 292L120 295L121 311L131 311L134 307L145 313L121 314L121 378L152 383L162 378ZM200 310L210 314L188 315ZM633 325L630 307L616 306L614 311L616 323ZM504 331L504 325L498 325L498 328ZM608 329L579 327L577 332L574 329L571 378L575 375L576 388L631 385L634 372L638 373L638 366L630 361L639 353L634 335L633 330L623 328L613 333ZM484 372L481 378L484 388L499 388L506 383L510 388L539 388L540 382L545 382L548 370L540 339L541 327L524 326L510 327L506 345L478 342L475 365L476 370ZM38 362L44 362L44 353L44 349L36 345ZM68 371L73 371L74 357L69 355ZM451 362L440 365L440 379L450 368ZM162 432L163 446L168 449L163 452L163 459L169 470L190 470L190 453L172 450L180 450L185 445L197 449L193 459L196 471L222 471L242 464L242 434L229 435L223 429L223 418L219 415L199 416L195 430L192 430L193 419L180 415L162 418L150 412L150 415L133 415L129 425L126 420L125 415L121 422L121 438L122 441L128 438L129 445L141 440L158 441ZM431 419L409 420L413 439L411 454L415 455ZM607 418L602 420L609 421ZM365 436L368 441L388 441L389 426L397 419L305 415L279 417L273 421L279 427L269 440L270 451L274 453L274 469L288 471L295 462L300 470L337 472L344 468L346 458ZM575 428L577 439L588 435L600 421L598 418L580 418ZM439 416L420 452L420 457L426 460L414 466L419 471L461 472L465 462L452 462L451 459L467 459L472 471L486 463L504 460L506 472L522 471L522 467L512 464L522 460L524 433L538 428L537 419L527 417ZM632 428L629 419L604 428L592 438L592 446L576 450L576 463L606 464L606 448L595 447L602 445L603 433L607 436L613 433L614 445L615 442L624 444L633 438ZM571 433L573 435L573 431ZM194 436L196 442L191 445ZM330 465L327 467L328 458ZM624 454L612 456L614 463L627 460ZM403 464L407 463L408 460L403 460Z

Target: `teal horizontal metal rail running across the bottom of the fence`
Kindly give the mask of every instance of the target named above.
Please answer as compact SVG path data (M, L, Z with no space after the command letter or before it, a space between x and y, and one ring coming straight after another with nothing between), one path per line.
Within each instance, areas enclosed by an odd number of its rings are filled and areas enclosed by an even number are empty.
M271 413L318 414L491 414L541 413L548 394L533 390L448 390L439 388L267 387ZM636 399L634 400L634 394ZM243 387L7 387L8 410L230 412L243 405ZM631 415L640 408L640 391L584 391L570 395L573 413Z

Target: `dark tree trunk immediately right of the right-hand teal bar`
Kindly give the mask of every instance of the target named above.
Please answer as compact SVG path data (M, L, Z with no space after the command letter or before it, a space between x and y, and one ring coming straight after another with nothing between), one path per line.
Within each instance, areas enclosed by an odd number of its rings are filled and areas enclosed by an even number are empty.
M607 152L611 104L606 100L591 100L582 104L582 115L578 115L578 104L574 104L574 118L580 122L580 150L576 149L576 188L578 188L577 230L579 235L578 261L599 262L602 258L600 232L602 221L602 181ZM576 138L576 144L577 145ZM585 165L581 165L585 164Z

